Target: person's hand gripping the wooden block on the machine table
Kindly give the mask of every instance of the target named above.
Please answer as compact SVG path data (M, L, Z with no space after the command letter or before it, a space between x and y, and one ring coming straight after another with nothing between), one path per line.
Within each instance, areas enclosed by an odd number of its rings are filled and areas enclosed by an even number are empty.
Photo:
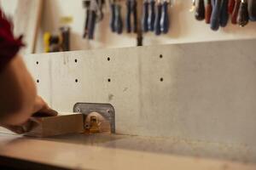
M35 117L38 116L57 116L58 112L52 110L51 108L49 108L49 105L47 105L44 102L44 99L42 99L41 97L37 97L37 99L35 100L35 104L33 106L33 110L32 110L32 116L23 124L21 125L2 125L2 127L5 127L7 129L9 129L10 131L14 132L14 133L27 133L29 131L32 130L33 127L36 127L38 125L37 120L35 119Z

